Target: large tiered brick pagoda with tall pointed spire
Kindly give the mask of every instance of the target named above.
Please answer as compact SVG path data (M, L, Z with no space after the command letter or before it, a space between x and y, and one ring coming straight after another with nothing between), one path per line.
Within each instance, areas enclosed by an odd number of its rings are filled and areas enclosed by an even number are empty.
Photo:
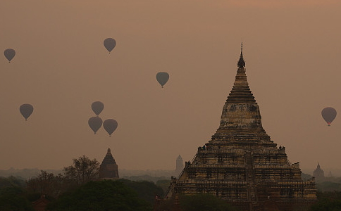
M303 181L299 162L290 163L285 147L266 134L245 72L241 49L219 128L172 177L166 198L212 193L239 210L306 210L316 202L314 178Z

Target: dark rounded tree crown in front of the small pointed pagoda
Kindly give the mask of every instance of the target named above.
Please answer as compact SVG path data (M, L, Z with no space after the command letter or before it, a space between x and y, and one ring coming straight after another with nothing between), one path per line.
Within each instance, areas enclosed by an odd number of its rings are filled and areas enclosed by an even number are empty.
M89 181L77 190L64 193L54 203L51 211L144 211L151 205L140 199L132 188L121 181Z

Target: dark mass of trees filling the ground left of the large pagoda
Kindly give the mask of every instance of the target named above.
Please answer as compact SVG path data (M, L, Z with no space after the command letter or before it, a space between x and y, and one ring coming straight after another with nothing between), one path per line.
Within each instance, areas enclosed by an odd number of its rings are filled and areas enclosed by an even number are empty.
M151 181L98 181L99 162L86 156L73 160L63 173L41 171L24 181L0 177L0 210L34 210L37 200L48 202L47 210L152 210L163 189Z

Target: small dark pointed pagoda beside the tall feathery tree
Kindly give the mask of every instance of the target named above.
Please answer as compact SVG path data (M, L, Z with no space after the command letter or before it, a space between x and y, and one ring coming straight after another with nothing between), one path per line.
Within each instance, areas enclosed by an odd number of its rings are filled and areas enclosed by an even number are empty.
M99 166L99 179L118 179L118 166L111 155L111 150L108 148L106 156Z

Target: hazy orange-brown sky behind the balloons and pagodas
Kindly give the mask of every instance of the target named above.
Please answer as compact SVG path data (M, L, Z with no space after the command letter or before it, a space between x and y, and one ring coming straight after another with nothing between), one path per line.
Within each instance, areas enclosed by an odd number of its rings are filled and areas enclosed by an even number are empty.
M341 1L16 0L0 3L0 169L61 169L81 155L175 169L211 139L244 42L263 128L302 169L341 168ZM111 54L104 39L117 41ZM3 55L3 54L2 54ZM166 86L156 72L168 72ZM87 120L104 103L118 129ZM19 106L35 110L28 121Z

